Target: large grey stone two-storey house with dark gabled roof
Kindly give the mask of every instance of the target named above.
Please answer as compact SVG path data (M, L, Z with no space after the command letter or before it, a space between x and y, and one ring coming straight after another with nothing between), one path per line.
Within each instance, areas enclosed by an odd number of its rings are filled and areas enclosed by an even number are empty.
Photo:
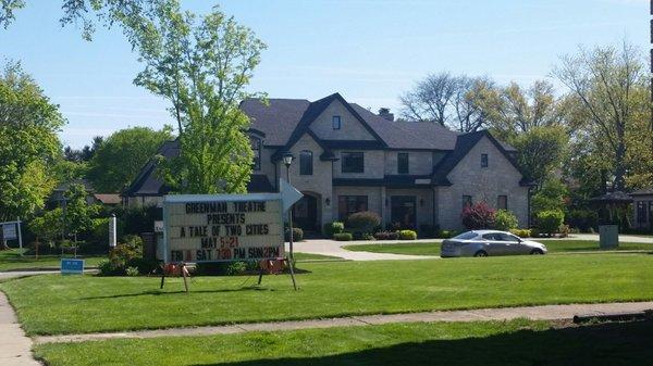
M485 201L515 213L528 225L530 185L515 163L515 149L483 130L456 134L430 122L396 122L386 109L379 115L341 94L309 102L249 99L255 152L249 191L275 191L286 172L282 156L293 153L292 184L305 197L294 220L307 230L373 211L383 224L461 228L466 204ZM164 156L178 154L165 142ZM168 192L148 163L123 194L130 205L157 204Z

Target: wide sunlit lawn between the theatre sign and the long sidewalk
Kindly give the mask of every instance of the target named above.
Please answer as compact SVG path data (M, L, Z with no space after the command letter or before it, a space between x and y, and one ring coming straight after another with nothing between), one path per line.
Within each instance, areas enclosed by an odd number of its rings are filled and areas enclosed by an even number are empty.
M433 310L653 299L653 255L549 255L453 261L303 263L286 275L44 275L0 283L29 335L324 318Z

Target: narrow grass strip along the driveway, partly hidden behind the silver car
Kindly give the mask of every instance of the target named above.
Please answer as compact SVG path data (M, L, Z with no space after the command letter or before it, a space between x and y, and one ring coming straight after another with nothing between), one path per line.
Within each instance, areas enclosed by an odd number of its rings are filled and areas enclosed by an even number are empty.
M533 239L538 240L538 239ZM550 253L569 253L569 252L582 252L582 251L596 251L600 252L597 241L591 240L567 240L567 239L554 239L554 240L541 240L546 245ZM432 243L374 243L374 244L360 244L360 245L347 245L344 247L346 250L354 252L373 252L373 253L393 253L393 254L410 254L410 255L440 255L440 242ZM632 250L653 250L653 243L636 243L636 242L623 242L619 243L618 250L620 251L632 251Z

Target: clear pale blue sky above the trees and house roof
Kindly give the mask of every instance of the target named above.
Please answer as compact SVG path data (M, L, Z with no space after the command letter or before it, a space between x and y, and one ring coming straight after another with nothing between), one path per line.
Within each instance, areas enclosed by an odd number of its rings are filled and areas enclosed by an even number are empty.
M118 30L86 42L61 28L61 0L27 0L0 58L17 60L61 105L65 144L128 126L172 123L165 101L132 85L141 68ZM213 3L267 42L250 88L271 98L346 99L396 112L397 96L429 73L528 85L579 45L649 48L648 0L186 0ZM560 90L562 91L562 90Z

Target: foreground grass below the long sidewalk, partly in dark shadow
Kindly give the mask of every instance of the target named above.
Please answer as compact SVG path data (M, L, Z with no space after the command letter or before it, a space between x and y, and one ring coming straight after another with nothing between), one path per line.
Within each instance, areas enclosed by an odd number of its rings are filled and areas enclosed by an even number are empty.
M44 344L50 366L649 365L650 321L392 324L281 332Z

